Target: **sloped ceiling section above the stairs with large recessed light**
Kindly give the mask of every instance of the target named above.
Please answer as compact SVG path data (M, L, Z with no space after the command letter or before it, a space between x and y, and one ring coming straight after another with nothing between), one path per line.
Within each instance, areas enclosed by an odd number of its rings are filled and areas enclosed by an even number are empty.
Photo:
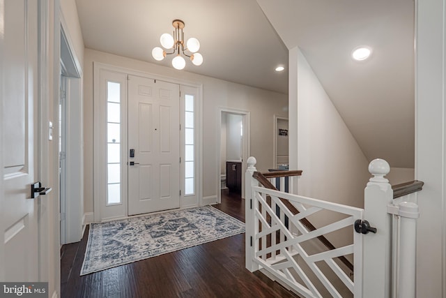
M299 47L371 161L414 167L414 2L257 0L286 47ZM351 59L360 45L371 59Z

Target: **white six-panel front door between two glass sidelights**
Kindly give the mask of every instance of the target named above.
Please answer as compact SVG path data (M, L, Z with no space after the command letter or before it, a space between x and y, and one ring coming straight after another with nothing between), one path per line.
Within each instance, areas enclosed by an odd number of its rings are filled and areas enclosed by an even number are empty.
M129 215L180 207L179 88L129 75Z

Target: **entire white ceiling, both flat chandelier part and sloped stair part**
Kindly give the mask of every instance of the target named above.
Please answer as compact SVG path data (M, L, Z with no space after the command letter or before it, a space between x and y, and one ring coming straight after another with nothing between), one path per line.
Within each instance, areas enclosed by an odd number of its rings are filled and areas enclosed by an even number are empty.
M151 50L180 19L204 58L183 71L284 94L287 69L274 68L299 46L367 158L414 165L413 0L76 2L88 48L171 67ZM355 63L351 50L364 44L373 56Z

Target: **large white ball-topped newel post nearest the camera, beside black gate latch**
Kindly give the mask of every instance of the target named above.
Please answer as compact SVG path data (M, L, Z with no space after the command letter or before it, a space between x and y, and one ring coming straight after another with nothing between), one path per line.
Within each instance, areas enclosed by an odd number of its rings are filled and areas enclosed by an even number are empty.
M387 213L387 205L392 203L393 191L384 178L390 172L387 161L376 158L369 164L369 172L374 175L364 190L364 220L376 228L376 234L364 234L364 267L362 293L364 298L390 297L392 215Z

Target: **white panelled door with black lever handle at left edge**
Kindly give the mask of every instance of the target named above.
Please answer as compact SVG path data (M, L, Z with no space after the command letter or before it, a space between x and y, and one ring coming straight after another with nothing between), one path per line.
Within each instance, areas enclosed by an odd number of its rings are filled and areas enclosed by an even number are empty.
M4 1L3 218L6 281L38 281L38 1ZM3 258L3 256L1 256Z

